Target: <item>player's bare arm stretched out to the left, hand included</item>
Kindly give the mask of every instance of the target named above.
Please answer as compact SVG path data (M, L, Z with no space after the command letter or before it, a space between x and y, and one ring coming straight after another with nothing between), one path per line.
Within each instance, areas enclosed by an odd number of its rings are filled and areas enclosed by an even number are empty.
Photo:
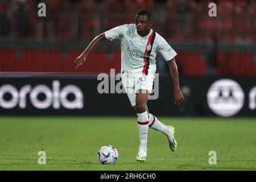
M102 42L103 40L107 40L105 33L102 33L98 36L96 36L96 38L94 38L92 40L92 42L89 44L89 46L84 50L84 52L81 53L80 56L78 56L74 63L76 65L76 68L79 67L80 65L82 65L82 63L84 63L84 61L86 60L87 55L89 54L90 51L92 51L92 49L94 47L96 47L100 42Z

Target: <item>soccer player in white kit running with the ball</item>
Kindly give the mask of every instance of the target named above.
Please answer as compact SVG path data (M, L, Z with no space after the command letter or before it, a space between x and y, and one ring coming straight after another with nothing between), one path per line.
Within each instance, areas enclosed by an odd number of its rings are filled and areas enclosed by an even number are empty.
M170 68L174 82L175 104L181 105L184 101L175 63L177 53L162 36L150 28L151 25L150 11L140 10L135 16L135 24L123 24L96 36L74 62L76 67L79 67L84 63L89 52L103 40L121 40L122 84L131 106L138 115L140 144L137 161L139 162L146 160L148 127L164 133L172 151L175 151L177 147L174 127L164 125L155 115L149 113L147 108L147 100L152 90L156 71L155 57L157 52L162 53Z

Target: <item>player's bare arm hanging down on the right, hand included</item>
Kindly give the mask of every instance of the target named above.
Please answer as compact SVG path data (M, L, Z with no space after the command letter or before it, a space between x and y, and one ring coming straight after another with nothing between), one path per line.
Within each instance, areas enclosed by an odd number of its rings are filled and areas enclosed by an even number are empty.
M174 82L175 104L181 105L184 102L184 97L183 97L183 94L181 93L181 90L180 90L179 73L177 71L177 64L176 64L175 58L167 61L167 63L169 65L172 80Z

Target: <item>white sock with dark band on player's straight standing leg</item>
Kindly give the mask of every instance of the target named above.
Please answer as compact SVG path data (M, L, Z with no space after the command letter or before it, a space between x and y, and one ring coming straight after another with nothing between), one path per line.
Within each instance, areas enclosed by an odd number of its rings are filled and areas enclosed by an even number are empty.
M138 130L139 130L139 151L147 152L147 131L148 131L148 115L147 111L138 115Z

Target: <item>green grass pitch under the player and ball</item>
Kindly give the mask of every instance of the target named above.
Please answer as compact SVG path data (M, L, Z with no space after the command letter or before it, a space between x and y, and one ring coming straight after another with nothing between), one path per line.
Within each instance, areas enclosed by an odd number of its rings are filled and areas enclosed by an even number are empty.
M175 127L177 150L164 134L148 130L148 153L137 163L137 117L0 117L0 170L256 170L255 118L158 117ZM113 165L98 149L112 144ZM38 152L46 152L46 165ZM210 165L209 151L217 152Z

